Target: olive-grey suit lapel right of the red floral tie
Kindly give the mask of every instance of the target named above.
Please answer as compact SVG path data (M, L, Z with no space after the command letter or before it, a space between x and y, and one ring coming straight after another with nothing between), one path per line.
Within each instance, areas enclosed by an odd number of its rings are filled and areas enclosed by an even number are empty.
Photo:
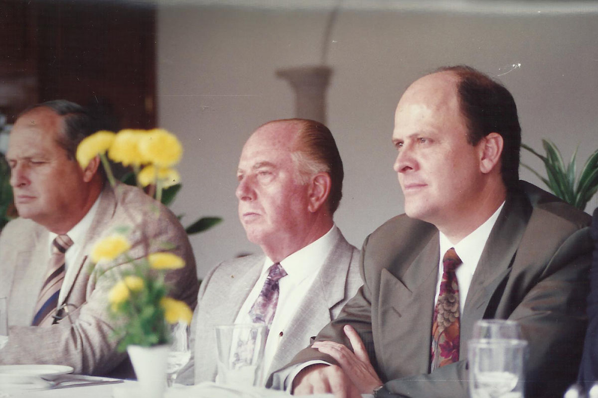
M526 228L526 206L516 197L509 197L484 246L463 308L461 341L471 338L474 323L484 317L492 295L511 271L511 264ZM459 357L465 358L466 344L461 344Z

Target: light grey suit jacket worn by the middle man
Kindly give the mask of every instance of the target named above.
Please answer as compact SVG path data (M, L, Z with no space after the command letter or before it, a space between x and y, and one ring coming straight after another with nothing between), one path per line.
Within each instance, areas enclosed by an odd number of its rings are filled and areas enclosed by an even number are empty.
M309 291L280 340L266 375L282 367L310 343L320 329L338 316L341 308L353 297L359 286L359 250L340 237L319 271ZM234 323L240 307L260 277L264 255L250 255L219 264L202 282L197 298L194 322L197 322L195 344L195 382L216 378L215 325Z

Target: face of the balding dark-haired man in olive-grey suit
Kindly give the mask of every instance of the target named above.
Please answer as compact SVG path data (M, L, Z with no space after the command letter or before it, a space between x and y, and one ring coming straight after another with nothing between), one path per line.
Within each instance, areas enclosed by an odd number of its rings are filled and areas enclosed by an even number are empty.
M405 213L437 226L475 211L475 193L483 184L479 150L467 142L456 84L451 72L414 82L396 108L392 135Z

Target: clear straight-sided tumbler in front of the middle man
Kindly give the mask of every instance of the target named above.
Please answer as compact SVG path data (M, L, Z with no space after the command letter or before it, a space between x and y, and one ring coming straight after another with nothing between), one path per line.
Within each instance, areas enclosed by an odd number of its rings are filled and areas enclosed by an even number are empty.
M266 326L257 323L216 326L218 375L228 385L261 385Z

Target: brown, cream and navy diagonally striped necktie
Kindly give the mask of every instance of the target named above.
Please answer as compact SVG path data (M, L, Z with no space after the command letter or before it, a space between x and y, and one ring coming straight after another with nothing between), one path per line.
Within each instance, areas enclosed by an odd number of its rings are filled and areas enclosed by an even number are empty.
M58 306L58 295L60 286L65 279L65 252L71 247L73 241L66 235L56 236L52 242L50 263L45 276L44 284L39 292L37 304L35 304L35 316L32 326L50 326L56 322L53 315Z

